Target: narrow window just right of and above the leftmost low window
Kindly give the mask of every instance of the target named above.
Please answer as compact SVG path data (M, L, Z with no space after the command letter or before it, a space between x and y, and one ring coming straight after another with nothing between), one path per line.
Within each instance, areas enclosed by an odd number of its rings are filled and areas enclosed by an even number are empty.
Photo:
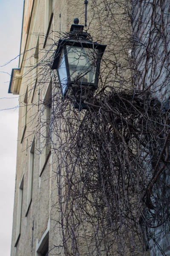
M28 203L27 203L27 212L28 215L29 208L32 202L32 190L33 190L33 178L34 178L34 154L35 152L35 139L33 139L32 145L29 152L29 178L28 178Z

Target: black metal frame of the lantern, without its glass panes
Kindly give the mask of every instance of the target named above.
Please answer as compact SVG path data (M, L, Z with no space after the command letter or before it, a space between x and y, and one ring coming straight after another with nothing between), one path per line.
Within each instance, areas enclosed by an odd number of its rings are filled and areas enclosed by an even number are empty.
M76 20L76 19L75 19ZM78 20L78 19L77 19ZM106 45L102 45L102 44L98 44L98 43L94 43L91 40L87 39L88 33L83 32L83 25L78 25L78 24L72 24L72 27L70 29L70 36L68 39L59 39L58 41L58 47L55 51L55 56L54 56L54 61L52 63L52 70L57 70L57 74L58 74L58 80L59 80L59 84L61 86L61 93L62 93L62 97L63 98L67 98L68 96L68 90L70 90L71 88L73 89L73 91L75 90L75 88L77 88L77 90L80 90L80 88L83 90L89 90L94 92L97 88L98 88L98 79L99 79L99 74L100 74L100 65L101 65L101 58L102 55L104 53L104 50L106 48ZM96 53L96 60L95 60L95 79L92 82L86 82L86 81L72 81L71 79L71 75L70 75L70 67L69 67L69 60L68 60L68 52L67 52L67 47L81 47L86 48L86 49L94 49L98 50L98 52ZM63 56L61 57L63 52ZM62 86L62 81L60 78L60 74L58 71L58 68L60 66L61 60L62 58L64 58L65 61L65 67L66 67L66 89L64 90L63 93L63 86ZM88 71L87 73L89 73L90 71ZM81 99L76 99L78 105L81 101ZM83 102L82 102L83 103ZM82 105L81 103L81 107L82 108L86 108L86 105L83 103ZM75 108L79 108L77 104L75 104Z

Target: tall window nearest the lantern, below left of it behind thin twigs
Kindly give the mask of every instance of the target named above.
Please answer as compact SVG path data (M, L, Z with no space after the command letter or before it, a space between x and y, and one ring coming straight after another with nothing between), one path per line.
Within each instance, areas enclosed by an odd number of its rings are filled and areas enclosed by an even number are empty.
M51 153L50 139L50 119L52 105L52 81L50 81L43 99L42 116L41 116L41 156L40 156L40 176L43 173L46 163Z

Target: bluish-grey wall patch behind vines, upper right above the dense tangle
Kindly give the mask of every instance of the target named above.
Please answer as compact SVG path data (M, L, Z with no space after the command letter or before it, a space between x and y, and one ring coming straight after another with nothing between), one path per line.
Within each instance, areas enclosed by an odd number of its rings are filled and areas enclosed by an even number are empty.
M169 98L169 11L168 1L133 5L135 79L140 90L149 88L161 101Z

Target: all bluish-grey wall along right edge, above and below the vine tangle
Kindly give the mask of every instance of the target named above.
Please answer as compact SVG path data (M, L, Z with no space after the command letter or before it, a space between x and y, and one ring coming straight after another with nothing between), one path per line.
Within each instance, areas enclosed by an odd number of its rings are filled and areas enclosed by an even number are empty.
M138 90L148 90L165 111L170 98L170 3L169 1L133 1L134 81ZM169 184L166 171L162 180ZM160 193L164 198L169 189ZM163 203L162 203L163 204ZM151 211L152 212L152 211ZM164 221L162 221L164 222ZM153 222L153 226L156 223ZM153 235L154 241L150 239ZM159 224L148 232L152 256L170 255L168 224Z

